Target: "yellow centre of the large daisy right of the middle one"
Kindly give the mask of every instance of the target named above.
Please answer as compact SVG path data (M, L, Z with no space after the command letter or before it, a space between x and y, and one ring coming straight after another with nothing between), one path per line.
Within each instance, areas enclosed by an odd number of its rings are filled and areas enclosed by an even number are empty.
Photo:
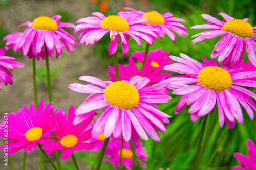
M227 90L232 85L230 74L220 67L205 67L199 72L198 83L216 92Z

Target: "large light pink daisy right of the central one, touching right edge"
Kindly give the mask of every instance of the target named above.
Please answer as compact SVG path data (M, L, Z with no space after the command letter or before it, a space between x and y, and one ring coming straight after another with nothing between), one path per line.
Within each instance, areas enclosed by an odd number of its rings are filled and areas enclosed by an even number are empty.
M256 71L218 67L217 61L208 61L205 57L204 64L185 54L181 54L181 57L170 56L177 63L164 67L164 70L185 74L167 79L170 82L168 88L174 89L173 94L182 95L175 114L180 113L186 105L191 105L188 113L191 114L192 122L195 122L199 116L214 109L217 102L220 127L223 127L225 120L230 129L234 127L236 119L240 124L243 123L240 104L253 119L256 105L250 96L256 98L256 94L240 86L255 88Z

